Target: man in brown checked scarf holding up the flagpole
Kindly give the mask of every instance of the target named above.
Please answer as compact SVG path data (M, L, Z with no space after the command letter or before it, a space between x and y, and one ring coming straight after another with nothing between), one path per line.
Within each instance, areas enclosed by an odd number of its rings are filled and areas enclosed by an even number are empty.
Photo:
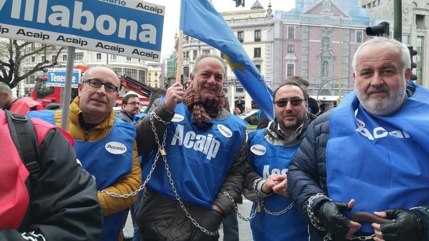
M156 165L136 218L145 241L218 240L234 210L228 196L241 195L246 123L223 108L224 77L219 56L199 56L191 87L172 85L136 124L139 155L151 155L143 176Z

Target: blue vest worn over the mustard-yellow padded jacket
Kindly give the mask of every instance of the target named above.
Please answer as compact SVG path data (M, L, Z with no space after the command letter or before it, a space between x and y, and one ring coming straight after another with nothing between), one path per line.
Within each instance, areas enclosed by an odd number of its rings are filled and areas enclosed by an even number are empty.
M55 125L54 111L29 111L36 117ZM75 140L75 151L82 168L96 180L97 190L114 185L133 167L133 145L136 129L132 123L115 119L109 135L96 142ZM117 241L122 227L122 211L104 216L102 241Z

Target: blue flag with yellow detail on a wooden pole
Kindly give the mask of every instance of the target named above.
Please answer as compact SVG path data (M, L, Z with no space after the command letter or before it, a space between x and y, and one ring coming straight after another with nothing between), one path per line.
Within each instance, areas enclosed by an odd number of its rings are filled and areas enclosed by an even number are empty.
M273 119L273 92L231 27L208 0L181 1L180 29L227 55L226 60L237 79L264 114Z

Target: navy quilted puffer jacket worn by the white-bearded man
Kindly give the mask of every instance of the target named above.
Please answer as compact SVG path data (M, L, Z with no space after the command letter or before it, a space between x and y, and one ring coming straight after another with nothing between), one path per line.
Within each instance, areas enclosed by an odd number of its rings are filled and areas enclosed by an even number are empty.
M407 87L408 96L414 92L415 89ZM326 146L330 138L330 117L331 111L325 112L309 125L301 148L296 152L288 169L289 190L294 202L298 205L301 216L308 223L311 223L307 213L308 199L316 193L329 196L326 183ZM316 199L312 206L317 206L321 201L323 201L322 198ZM424 231L426 236L423 237L422 241L428 241L429 212L420 208L415 210L421 219L427 223ZM309 226L311 240L323 241L325 233L316 231L312 224Z

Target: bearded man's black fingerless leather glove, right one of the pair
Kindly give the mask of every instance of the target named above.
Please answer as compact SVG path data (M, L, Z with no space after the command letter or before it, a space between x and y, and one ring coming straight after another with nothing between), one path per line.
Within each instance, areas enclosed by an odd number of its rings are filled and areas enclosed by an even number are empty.
M424 224L413 210L394 208L386 210L388 219L394 219L380 225L383 239L386 241L419 241Z

